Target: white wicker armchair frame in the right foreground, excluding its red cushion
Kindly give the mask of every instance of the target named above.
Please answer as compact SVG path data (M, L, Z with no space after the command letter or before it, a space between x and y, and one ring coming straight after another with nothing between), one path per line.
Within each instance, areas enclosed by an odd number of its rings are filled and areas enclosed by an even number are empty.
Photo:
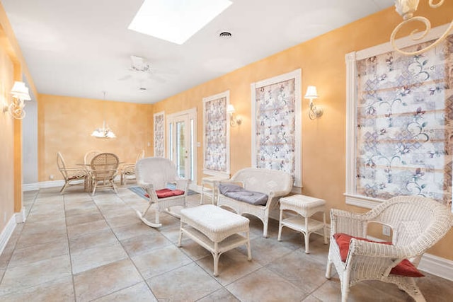
M382 223L392 229L392 245L352 238L346 261L342 262L333 235L346 233L366 238L367 225L372 222ZM417 267L423 253L445 236L451 223L449 209L425 197L394 197L365 214L331 209L331 243L326 277L330 279L333 264L340 278L342 301L347 301L350 286L365 280L396 284L415 301L425 301L415 277L390 274L390 271L404 259Z

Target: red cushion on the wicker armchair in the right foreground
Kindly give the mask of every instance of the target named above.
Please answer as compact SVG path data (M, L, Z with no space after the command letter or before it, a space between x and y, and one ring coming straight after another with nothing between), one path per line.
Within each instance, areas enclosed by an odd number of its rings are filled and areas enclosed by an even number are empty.
M391 242L388 242L388 241L373 241L373 240L369 240L367 238L350 236L345 233L336 233L333 235L333 238L335 238L336 243L338 244L338 248L340 248L340 257L341 257L341 261L343 261L343 262L346 262L346 257L348 257L351 238L355 238L357 240L373 242L373 243L382 243L382 244L391 245ZM396 265L396 267L392 268L390 271L390 274L396 274L398 276L405 276L405 277L424 277L425 276L412 264L411 261L409 261L407 259L404 259L403 261L399 262L398 265Z

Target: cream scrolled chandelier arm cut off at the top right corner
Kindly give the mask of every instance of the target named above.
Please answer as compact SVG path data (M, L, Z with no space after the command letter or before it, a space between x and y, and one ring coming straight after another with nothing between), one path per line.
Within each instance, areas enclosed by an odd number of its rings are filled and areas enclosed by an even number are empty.
M442 6L442 4L444 4L444 0L439 0L437 2L437 4L433 3L434 0L429 0L429 1L430 1L431 8L438 8L439 6ZM395 36L396 36L396 33L398 33L398 30L400 30L404 25L414 22L414 21L425 24L425 30L423 30L423 32L419 33L418 30L413 30L411 32L411 35L409 35L409 36L411 37L411 39L413 41L423 39L423 37L428 35L429 31L431 30L431 23L428 20L428 18L425 18L422 16L416 16L416 17L413 16L413 13L415 13L415 11L417 11L419 2L420 2L419 0L395 0L396 12L399 13L401 17L403 17L403 22L399 23L396 26L396 28L394 29L394 31L391 33L390 42L391 42L391 46L394 47L394 50L396 50L397 52L400 52L401 54L417 55L417 54L421 54L422 52L426 52L426 51L432 49L432 47L437 46L443 40L445 40L448 33L453 28L453 21L452 21L452 23L450 23L450 25L448 26L447 30L445 30L445 33L443 33L437 40L435 40L435 42L433 42L432 44L428 45L427 47L425 47L421 50L417 50L415 52L405 52L405 51L401 50L400 48L398 48L398 46L396 46L396 43L395 43ZM418 35L415 35L415 34L418 34Z

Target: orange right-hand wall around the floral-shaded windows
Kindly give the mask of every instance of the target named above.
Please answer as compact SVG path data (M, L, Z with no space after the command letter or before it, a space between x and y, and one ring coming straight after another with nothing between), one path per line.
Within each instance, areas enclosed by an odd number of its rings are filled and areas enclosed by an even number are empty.
M426 3L425 3L426 2ZM420 3L418 14L432 21L432 26L451 21L453 1L441 8ZM154 105L154 111L166 115L196 107L197 137L202 138L202 98L230 91L230 103L243 117L241 126L231 128L231 173L251 165L251 88L250 84L302 69L302 92L316 85L320 98L316 105L324 114L317 120L308 118L308 101L302 100L302 185L303 194L326 199L328 208L365 211L345 204L345 54L388 42L401 17L388 8L355 23L333 30L288 50L189 89ZM202 143L202 139L199 139ZM202 177L202 148L197 150L197 179ZM453 231L430 252L453 260Z

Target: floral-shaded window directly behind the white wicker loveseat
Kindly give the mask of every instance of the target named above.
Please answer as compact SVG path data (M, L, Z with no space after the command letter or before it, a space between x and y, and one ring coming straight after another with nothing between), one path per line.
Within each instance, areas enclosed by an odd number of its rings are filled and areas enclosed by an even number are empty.
M301 69L251 84L252 167L282 170L302 187Z

